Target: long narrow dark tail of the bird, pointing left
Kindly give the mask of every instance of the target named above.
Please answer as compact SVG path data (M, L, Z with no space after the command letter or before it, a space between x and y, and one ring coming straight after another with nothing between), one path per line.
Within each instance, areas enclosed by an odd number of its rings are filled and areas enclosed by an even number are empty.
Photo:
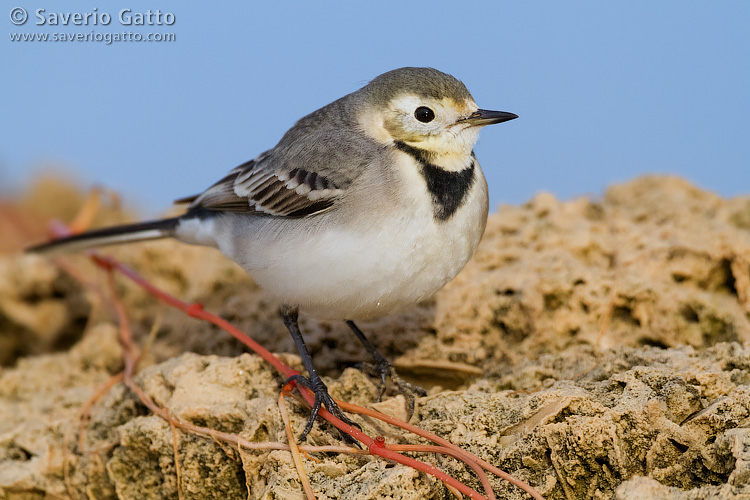
M52 240L26 249L27 252L45 255L76 252L92 247L132 243L135 241L155 240L175 234L179 217L150 222L139 222L123 226L96 229L75 234L67 238Z

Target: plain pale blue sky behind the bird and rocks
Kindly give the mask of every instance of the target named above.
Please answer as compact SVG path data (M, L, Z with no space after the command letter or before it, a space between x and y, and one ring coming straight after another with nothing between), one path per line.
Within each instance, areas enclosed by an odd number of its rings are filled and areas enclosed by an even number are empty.
M28 21L15 26L10 11ZM97 10L94 11L93 9ZM108 13L38 26L37 9ZM170 12L171 26L118 13ZM649 172L750 193L750 2L9 0L0 8L0 193L44 165L144 215L272 147L298 118L401 66L433 66L520 119L476 147L493 207ZM174 33L169 43L8 33Z

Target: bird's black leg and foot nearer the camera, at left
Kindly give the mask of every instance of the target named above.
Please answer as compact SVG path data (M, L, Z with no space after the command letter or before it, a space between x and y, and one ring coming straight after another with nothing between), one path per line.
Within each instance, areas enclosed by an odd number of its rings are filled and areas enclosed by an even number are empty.
M312 430L312 426L315 423L315 417L318 416L321 405L325 405L326 409L334 416L336 416L339 420L342 420L349 425L359 428L359 425L349 420L344 412L341 411L341 408L338 407L330 394L328 394L328 388L323 383L320 375L318 375L318 371L313 365L310 351L307 350L305 340L302 338L302 332L300 332L299 325L297 324L297 308L282 306L280 312L281 318L284 320L284 325L286 326L287 330L289 330L289 333L292 334L294 343L297 346L297 351L299 351L299 355L302 357L302 363L304 363L305 369L310 376L310 378L306 378L302 375L294 375L292 377L289 377L287 382L293 380L315 393L315 402L312 407L312 412L310 413L310 418L308 419L307 425L305 425L305 430L302 431L302 435L300 436L299 440L304 441L305 438L307 438L307 435L310 433L310 431ZM357 441L348 434L342 432L341 435L345 441L348 441L349 443L355 445L357 444Z

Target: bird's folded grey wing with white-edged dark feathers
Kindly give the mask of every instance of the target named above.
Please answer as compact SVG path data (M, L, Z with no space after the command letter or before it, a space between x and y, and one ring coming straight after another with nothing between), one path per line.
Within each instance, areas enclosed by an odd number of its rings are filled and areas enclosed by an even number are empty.
M202 194L179 201L190 202L189 209L284 217L320 213L335 205L369 162L360 142L358 137L329 131L301 144L277 146L235 168Z

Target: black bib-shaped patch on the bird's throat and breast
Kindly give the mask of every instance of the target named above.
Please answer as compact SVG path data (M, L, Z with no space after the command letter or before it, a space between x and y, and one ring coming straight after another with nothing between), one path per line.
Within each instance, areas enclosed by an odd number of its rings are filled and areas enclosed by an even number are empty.
M474 185L474 153L471 154L471 165L458 172L450 172L430 163L431 155L428 151L401 141L396 141L395 144L398 149L419 162L427 190L432 195L435 218L440 221L450 219L466 201L466 196Z

